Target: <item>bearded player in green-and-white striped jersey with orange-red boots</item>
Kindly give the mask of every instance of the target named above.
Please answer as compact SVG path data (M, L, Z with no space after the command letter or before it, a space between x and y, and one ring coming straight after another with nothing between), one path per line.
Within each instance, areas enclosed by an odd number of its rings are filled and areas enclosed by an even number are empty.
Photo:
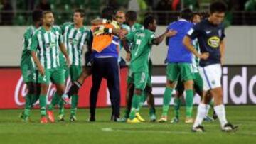
M37 29L31 41L31 55L38 67L38 83L41 84L39 104L41 111L41 123L48 123L46 118L46 94L50 79L57 88L58 96L65 91L65 76L60 68L59 50L65 55L67 65L70 65L68 52L62 43L60 28L53 26L54 16L51 11L43 12L43 26ZM53 122L53 119L49 119Z

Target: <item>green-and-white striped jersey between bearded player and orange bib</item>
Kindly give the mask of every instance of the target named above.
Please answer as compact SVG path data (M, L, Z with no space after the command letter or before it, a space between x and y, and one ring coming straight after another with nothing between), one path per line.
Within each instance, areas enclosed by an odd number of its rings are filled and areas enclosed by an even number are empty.
M82 48L91 40L90 30L85 26L75 28L75 23L64 23L61 30L71 65L82 65Z

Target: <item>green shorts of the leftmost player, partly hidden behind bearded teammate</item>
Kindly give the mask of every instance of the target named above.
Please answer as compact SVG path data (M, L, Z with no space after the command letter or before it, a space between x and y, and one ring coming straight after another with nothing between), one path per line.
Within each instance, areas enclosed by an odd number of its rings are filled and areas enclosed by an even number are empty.
M21 73L23 77L23 82L33 82L36 83L36 68L31 63L21 64Z

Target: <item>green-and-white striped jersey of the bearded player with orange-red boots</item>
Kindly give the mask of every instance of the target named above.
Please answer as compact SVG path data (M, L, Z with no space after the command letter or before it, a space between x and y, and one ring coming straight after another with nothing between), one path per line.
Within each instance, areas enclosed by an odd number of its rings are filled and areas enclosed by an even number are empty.
M61 30L53 26L50 31L40 27L36 30L31 41L31 50L36 51L41 65L45 69L60 67L60 43L63 42Z

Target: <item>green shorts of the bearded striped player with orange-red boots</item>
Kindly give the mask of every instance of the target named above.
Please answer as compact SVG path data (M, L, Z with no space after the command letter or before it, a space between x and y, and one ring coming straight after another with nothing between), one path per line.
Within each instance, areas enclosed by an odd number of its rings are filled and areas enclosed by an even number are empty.
M50 80L54 84L65 84L65 70L63 68L45 69L45 74L38 74L38 83L49 84Z

